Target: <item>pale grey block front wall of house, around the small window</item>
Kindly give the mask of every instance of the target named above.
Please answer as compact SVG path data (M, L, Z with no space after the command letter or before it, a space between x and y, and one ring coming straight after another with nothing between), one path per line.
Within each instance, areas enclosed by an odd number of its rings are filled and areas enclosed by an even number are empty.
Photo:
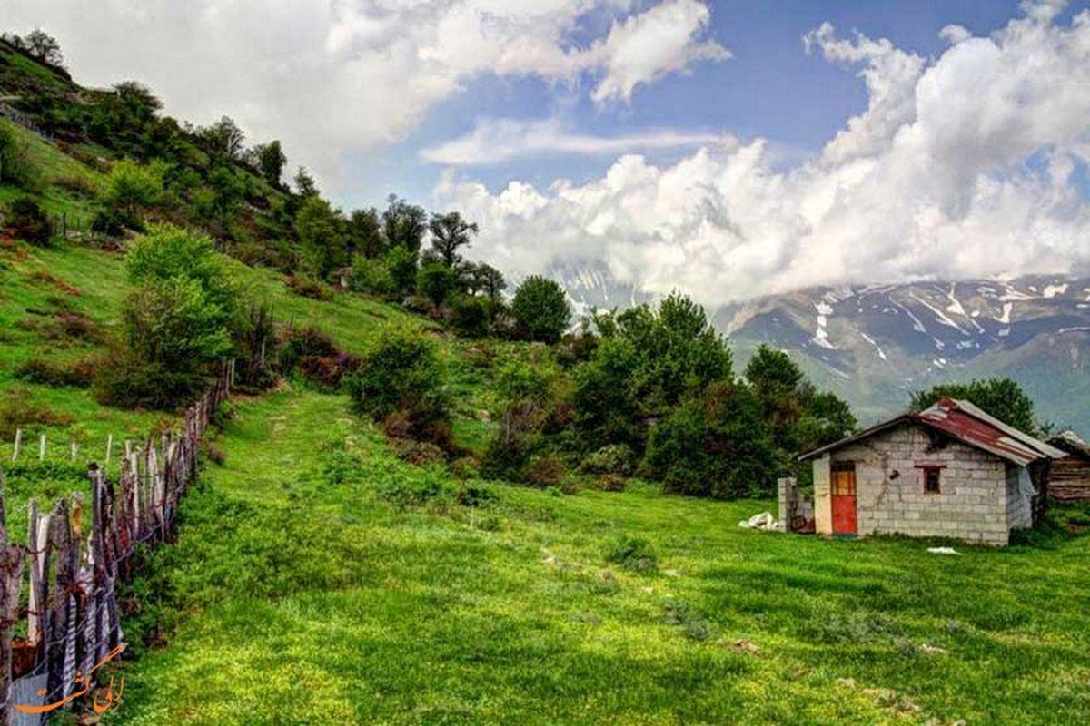
M950 440L935 446L928 430L905 423L831 454L832 464L847 462L856 465L860 534L1007 543L1009 487L1003 459ZM924 493L923 465L942 467L940 493Z

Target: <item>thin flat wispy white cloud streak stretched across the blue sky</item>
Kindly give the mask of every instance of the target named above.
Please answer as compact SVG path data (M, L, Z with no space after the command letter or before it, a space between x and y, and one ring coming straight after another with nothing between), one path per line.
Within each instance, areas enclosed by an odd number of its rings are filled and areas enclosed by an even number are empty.
M737 141L730 136L673 130L591 136L571 132L558 119L483 119L469 134L424 149L421 157L448 165L488 165L523 157L621 155L706 144L734 145Z

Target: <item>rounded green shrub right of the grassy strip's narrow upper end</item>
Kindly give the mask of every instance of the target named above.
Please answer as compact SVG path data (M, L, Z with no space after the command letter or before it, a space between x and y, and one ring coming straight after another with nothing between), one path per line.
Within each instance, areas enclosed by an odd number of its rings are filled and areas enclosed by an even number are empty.
M449 415L438 348L415 328L385 328L359 369L346 379L346 385L356 411L382 421L403 410L414 434L427 431Z

